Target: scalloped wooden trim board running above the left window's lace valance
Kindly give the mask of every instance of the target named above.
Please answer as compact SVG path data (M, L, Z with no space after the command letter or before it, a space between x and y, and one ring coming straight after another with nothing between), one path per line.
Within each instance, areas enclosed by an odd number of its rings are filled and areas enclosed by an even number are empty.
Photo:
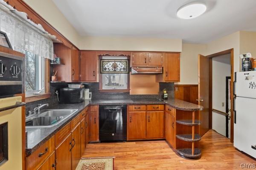
M64 45L71 48L72 42L67 40L58 30L56 30L51 24L49 24L43 17L41 17L36 11L34 11L23 0L4 0L7 4L17 9L17 11L25 12L29 20L32 20L36 24L41 24L45 31L49 34L55 35L57 40L60 40ZM75 45L73 45L75 46Z

